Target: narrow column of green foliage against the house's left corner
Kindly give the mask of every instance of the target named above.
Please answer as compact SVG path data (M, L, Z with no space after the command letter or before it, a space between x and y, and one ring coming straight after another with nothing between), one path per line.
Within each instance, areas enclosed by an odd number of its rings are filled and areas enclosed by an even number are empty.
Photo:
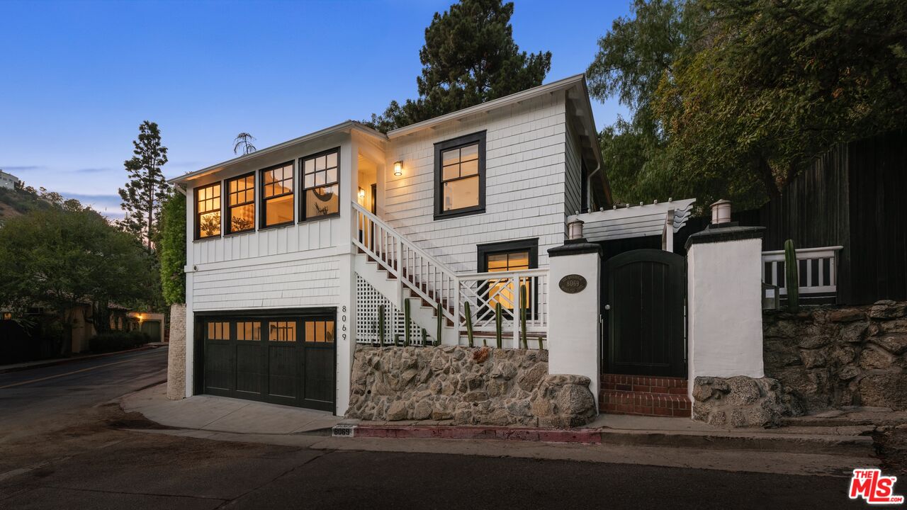
M173 191L161 213L161 290L168 305L186 302L186 197Z

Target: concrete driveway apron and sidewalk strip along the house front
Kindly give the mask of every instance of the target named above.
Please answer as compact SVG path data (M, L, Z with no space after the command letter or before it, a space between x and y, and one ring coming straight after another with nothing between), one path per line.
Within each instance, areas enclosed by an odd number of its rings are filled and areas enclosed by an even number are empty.
M337 425L357 438L482 439L619 446L668 446L823 455L872 456L873 426L722 429L687 418L600 415L587 427L463 427L434 420L364 422L324 411L200 395L168 400L165 385L122 398L123 410L165 427L240 435L322 434Z

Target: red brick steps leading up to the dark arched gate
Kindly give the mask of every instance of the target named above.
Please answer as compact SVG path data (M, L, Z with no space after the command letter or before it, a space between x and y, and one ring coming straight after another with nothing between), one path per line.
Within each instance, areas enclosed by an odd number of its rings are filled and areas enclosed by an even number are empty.
M687 379L602 374L602 412L647 417L690 417Z

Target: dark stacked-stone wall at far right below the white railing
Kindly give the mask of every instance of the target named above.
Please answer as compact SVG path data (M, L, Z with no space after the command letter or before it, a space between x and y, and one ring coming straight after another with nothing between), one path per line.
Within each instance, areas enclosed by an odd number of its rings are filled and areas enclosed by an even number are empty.
M766 377L808 411L907 409L907 302L766 312Z

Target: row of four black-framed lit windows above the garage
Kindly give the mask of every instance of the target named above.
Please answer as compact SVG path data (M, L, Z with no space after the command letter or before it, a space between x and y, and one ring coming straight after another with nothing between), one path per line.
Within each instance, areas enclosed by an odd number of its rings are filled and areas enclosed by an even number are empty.
M299 159L302 169L300 221L324 218L340 213L340 153L337 149ZM215 182L195 190L195 237L217 237L221 230L233 234L255 230L255 187L261 188L261 212L258 227L285 225L294 221L293 162L283 163ZM221 187L226 188L222 197ZM226 199L226 200L223 200ZM226 208L227 221L220 211Z

